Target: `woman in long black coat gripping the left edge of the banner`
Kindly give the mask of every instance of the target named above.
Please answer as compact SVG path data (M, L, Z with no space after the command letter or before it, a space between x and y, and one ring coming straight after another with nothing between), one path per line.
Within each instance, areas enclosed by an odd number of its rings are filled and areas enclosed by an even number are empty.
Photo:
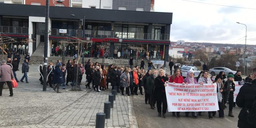
M155 90L154 93L156 94L156 107L158 116L161 117L161 105L163 102L163 118L166 118L166 110L167 110L167 99L165 93L165 87L167 86L168 79L164 76L164 70L159 69L158 76L155 79ZM177 114L178 115L178 114Z

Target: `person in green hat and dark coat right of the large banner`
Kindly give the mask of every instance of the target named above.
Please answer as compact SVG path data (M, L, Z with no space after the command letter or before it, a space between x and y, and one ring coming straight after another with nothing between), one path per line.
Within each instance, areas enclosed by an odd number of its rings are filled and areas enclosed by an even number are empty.
M228 80L224 84L225 88L227 88L227 92L225 93L225 103L229 104L229 111L228 116L234 117L233 115L233 104L234 104L234 92L235 92L235 81L234 81L234 75L229 74Z

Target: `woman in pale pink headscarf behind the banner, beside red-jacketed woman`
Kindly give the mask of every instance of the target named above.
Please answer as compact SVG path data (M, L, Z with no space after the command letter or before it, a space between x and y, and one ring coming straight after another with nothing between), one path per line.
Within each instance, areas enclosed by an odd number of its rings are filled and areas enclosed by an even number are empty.
M187 72L187 77L184 79L184 82L186 84L197 84L197 80L194 78L194 72L193 71L188 71ZM196 112L191 112L193 118L197 118L197 113ZM189 112L185 112L186 117L189 117Z

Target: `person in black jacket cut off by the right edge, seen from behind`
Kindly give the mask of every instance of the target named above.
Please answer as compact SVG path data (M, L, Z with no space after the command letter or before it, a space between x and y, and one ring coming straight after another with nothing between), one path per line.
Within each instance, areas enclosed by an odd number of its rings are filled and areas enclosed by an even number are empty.
M251 109L251 106L253 105L253 99L256 97L256 67L253 69L251 78L253 80L252 83L246 83L243 85L240 88L235 100L237 106L242 107L242 110L238 116L237 126L239 128L255 128L255 126L252 126L247 122L247 113L250 111L248 109Z

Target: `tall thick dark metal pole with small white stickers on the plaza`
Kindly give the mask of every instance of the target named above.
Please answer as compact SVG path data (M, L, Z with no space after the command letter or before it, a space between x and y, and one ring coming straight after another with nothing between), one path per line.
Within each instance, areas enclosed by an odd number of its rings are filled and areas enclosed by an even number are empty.
M45 5L45 48L43 54L43 91L46 91L46 82L47 82L47 54L48 54L48 25L49 25L49 0L46 0Z

